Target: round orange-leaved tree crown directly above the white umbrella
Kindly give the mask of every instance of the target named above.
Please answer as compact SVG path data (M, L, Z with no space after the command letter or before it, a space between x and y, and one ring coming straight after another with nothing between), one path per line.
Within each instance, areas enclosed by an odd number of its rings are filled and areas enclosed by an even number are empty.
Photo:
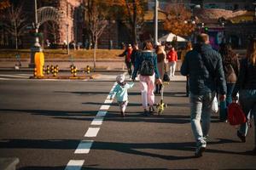
M189 36L195 31L195 23L191 22L192 14L182 4L174 4L167 8L164 29L177 36Z

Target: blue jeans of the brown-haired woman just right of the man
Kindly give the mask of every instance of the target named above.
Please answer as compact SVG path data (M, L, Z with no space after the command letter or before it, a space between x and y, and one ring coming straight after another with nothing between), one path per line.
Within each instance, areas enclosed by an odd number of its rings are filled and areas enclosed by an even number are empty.
M219 119L221 121L227 120L228 111L227 107L232 103L232 93L235 88L235 83L227 83L227 94L226 99L220 102Z

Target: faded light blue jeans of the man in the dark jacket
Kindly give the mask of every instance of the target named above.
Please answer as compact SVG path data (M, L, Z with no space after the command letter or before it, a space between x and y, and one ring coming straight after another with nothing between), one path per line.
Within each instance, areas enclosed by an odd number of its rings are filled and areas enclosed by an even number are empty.
M190 94L191 127L197 146L207 144L214 96L215 93L203 95Z

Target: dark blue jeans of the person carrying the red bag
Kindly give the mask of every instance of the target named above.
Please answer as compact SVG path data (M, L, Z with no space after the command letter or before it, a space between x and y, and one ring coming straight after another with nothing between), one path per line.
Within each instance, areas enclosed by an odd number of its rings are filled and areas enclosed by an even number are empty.
M243 89L239 91L239 102L241 109L245 113L247 118L254 117L254 138L256 146L256 89ZM248 124L247 122L241 124L239 132L244 136L247 135Z

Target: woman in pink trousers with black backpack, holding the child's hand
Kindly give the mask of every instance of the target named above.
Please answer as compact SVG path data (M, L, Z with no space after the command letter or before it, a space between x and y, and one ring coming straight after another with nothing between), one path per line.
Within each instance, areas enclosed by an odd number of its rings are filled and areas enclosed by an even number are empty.
M154 112L154 81L161 83L157 68L157 57L151 42L143 43L143 51L136 57L132 81L137 77L139 71L140 88L142 92L144 115ZM149 108L148 108L149 105Z

